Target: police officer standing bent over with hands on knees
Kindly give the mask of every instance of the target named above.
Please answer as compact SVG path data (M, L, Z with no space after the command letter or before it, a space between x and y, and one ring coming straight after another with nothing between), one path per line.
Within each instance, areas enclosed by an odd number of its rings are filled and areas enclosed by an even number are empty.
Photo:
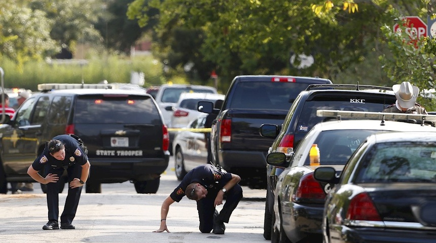
M43 229L59 229L59 187L63 186L59 177L64 170L68 173L69 185L64 210L60 216L60 228L76 228L71 222L76 216L82 186L88 179L91 166L84 150L85 147L77 139L70 135L59 135L47 143L43 153L27 169L30 177L47 185L49 222L43 226ZM47 175L45 178L38 174L44 166Z

